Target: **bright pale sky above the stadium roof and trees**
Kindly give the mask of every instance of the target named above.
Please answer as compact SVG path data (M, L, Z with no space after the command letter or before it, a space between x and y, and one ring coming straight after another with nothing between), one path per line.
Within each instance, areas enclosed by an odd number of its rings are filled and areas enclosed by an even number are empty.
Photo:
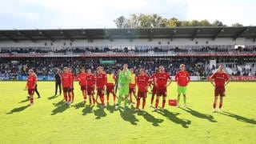
M254 0L0 0L0 29L114 28L130 14L256 26Z

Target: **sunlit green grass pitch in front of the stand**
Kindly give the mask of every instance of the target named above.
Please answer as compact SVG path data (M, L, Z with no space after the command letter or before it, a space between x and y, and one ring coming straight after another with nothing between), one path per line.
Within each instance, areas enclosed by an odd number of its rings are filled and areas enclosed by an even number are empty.
M230 82L222 113L213 114L210 82L190 83L189 109L163 113L151 112L150 95L144 113L116 111L112 101L104 110L85 106L77 82L71 106L53 97L54 82L38 82L42 98L28 106L25 82L0 82L0 143L255 143L255 84ZM167 98L176 98L176 88Z

